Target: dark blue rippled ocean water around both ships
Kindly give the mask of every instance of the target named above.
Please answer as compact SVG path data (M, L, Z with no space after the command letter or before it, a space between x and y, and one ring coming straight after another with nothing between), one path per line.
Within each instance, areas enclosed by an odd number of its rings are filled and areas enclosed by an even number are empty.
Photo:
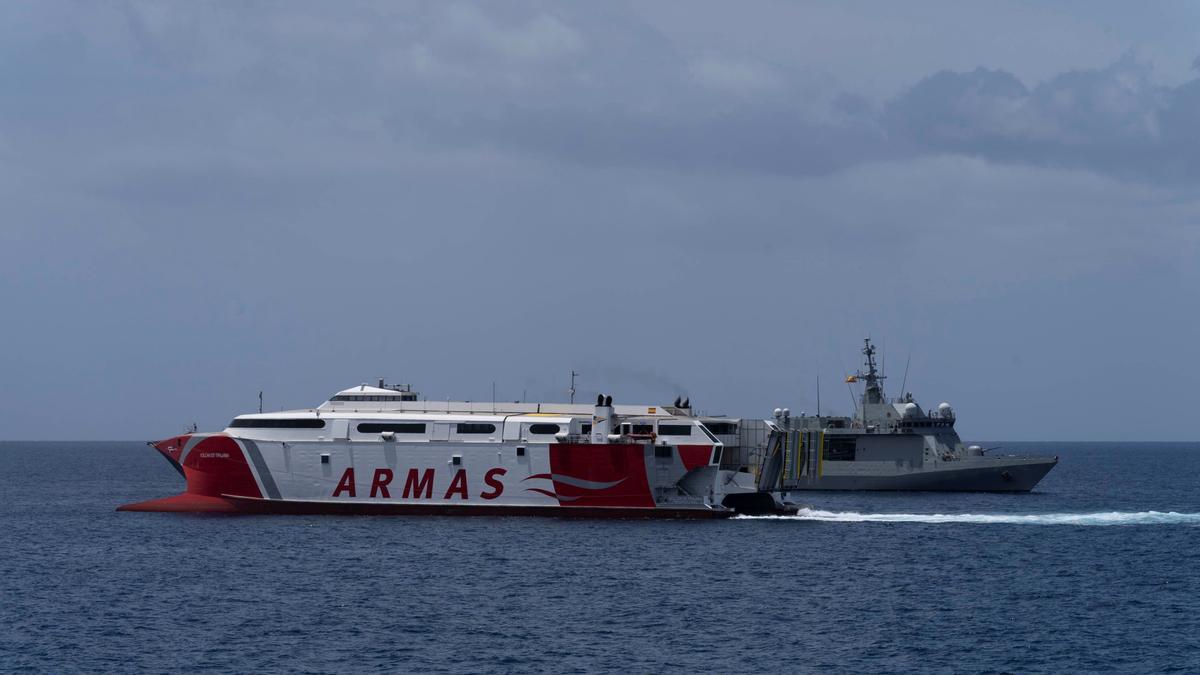
M1200 671L1200 444L1004 443L1026 495L714 522L116 513L140 443L0 443L0 671Z

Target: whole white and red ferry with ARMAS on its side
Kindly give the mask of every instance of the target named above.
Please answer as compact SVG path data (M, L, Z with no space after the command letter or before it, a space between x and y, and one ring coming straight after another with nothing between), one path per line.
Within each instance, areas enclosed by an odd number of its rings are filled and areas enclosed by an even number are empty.
M184 494L119 510L722 518L772 510L677 406L419 401L360 386L151 443Z

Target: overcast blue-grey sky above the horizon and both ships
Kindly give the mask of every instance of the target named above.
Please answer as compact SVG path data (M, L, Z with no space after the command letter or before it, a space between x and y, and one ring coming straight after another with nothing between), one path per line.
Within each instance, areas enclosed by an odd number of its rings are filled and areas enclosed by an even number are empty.
M1195 440L1190 2L4 2L0 438L430 399Z

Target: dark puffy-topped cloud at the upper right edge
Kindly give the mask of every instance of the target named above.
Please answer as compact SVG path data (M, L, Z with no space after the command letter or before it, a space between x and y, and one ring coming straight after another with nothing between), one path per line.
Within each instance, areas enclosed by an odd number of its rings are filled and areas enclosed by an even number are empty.
M1033 89L1003 71L946 71L890 101L881 124L914 153L1188 181L1200 172L1200 80L1166 88L1150 76L1128 56Z

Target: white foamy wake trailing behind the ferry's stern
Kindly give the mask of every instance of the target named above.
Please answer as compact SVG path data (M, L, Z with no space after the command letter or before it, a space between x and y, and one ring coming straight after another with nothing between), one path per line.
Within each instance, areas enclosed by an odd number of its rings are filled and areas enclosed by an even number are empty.
M979 522L1000 525L1200 525L1200 513L1174 510L1102 513L856 513L802 508L794 515L739 515L746 520L816 520L822 522Z

